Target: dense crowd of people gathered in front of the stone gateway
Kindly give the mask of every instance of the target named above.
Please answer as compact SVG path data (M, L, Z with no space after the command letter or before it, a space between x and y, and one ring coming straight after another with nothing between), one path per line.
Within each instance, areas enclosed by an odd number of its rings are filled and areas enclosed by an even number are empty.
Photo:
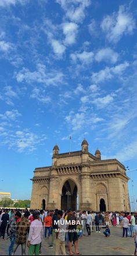
M78 239L103 232L110 237L110 227L121 226L122 237L134 237L137 247L137 213L134 212L90 212L0 209L0 237L5 234L10 240L9 255L15 255L21 246L21 255L39 255L42 237L50 241L49 248L55 247L56 255L80 255ZM49 239L50 237L50 239ZM74 246L74 253L72 251Z

